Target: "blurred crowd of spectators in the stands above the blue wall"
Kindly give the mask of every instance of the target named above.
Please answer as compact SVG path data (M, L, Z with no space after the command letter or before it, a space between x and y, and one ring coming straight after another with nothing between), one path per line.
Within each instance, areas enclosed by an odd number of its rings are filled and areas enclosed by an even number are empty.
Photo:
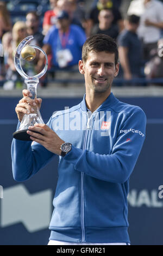
M36 6L40 5L41 0L17 0L16 3L17 6L25 2L30 5L35 1ZM89 9L86 0L45 1L44 6L49 9L43 15L39 8L29 9L24 18L18 17L16 22L8 8L10 1L0 1L0 81L4 81L4 89L22 87L14 65L14 52L28 35L34 36L30 44L40 46L48 56L46 76L55 78L57 70L77 69L86 38L102 33L117 42L121 63L118 78L134 81L135 78L163 77L161 0L132 0L123 14L122 0L92 0ZM39 54L32 64L24 62L24 69L32 76L41 71L44 64L45 57ZM47 86L45 80L43 77L40 81L42 87Z

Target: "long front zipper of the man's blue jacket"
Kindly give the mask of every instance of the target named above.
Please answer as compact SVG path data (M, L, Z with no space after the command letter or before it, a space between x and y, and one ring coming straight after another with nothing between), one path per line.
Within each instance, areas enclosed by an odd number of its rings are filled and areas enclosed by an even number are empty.
M86 132L84 136L84 142L83 142L83 149L86 149L87 145L87 137L89 134L89 129L90 129L90 120L92 115L90 115L89 112L87 112L87 123L86 123ZM84 172L81 173L81 183L80 183L80 188L81 188L81 225L82 225L82 240L81 242L85 242L85 228L84 228Z

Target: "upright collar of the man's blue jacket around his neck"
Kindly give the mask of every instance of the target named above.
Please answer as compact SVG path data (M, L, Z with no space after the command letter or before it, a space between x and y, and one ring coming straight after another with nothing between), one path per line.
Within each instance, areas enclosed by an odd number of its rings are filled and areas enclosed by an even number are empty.
M86 102L85 102L85 95L86 94L84 94L83 101L81 102L81 108L82 108L82 111L87 112L87 107L86 107ZM116 97L112 93L110 93L110 95L106 98L106 100L102 103L102 105L100 105L95 110L95 112L98 112L98 111L101 111L102 109L108 108L116 102L118 102L118 99L116 99Z

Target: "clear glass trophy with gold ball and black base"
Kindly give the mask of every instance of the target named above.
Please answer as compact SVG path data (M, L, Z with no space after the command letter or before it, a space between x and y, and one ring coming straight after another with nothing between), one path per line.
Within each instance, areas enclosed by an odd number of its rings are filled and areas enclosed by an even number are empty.
M30 98L35 99L39 78L45 75L47 71L48 59L47 59L46 53L39 46L27 45L27 43L32 39L33 39L33 35L30 35L30 36L27 36L27 38L24 38L20 42L15 52L14 64L17 72L24 78L24 82L27 85L27 89L32 94ZM36 56L35 49L41 51L45 55L45 58L46 58L45 67L39 74L30 77L22 70L21 57L28 61L33 60ZM37 106L36 107L33 106L33 109L34 109L33 113L24 114L19 129L13 133L13 137L15 139L20 139L21 141L31 141L30 136L27 133L28 127L34 126L35 124L44 124L39 108Z

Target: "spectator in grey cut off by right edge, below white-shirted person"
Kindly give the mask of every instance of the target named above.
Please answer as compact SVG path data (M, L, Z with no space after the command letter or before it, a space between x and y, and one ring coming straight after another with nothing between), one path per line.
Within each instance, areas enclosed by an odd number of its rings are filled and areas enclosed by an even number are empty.
M163 38L158 41L157 54L145 66L145 75L147 78L162 78L163 70ZM162 86L162 83L160 83Z

